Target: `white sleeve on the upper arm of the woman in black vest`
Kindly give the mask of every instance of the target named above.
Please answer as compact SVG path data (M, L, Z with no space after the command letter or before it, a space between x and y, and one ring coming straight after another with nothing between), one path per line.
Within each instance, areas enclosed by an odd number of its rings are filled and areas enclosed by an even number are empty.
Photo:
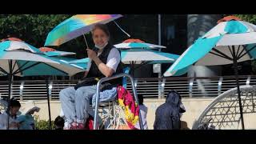
M118 64L121 61L120 53L117 48L113 48L110 50L110 54L106 60L106 66L110 67L114 72L118 68Z

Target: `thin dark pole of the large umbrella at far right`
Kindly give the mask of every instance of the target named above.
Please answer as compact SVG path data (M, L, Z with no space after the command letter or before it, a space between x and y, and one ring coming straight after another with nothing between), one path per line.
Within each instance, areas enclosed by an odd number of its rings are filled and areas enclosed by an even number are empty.
M235 74L235 79L236 79L237 88L238 88L238 101L239 101L239 110L240 110L242 130L245 130L245 125L244 125L244 121L243 121L243 112L242 112L241 91L240 91L240 87L239 87L238 60L237 60L237 58L233 58L233 62L234 62L234 74Z

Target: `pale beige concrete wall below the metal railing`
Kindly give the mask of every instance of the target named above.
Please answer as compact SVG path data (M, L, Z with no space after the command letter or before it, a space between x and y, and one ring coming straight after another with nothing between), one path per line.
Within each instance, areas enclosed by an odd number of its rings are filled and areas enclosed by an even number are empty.
M182 115L182 121L186 121L188 127L191 129L195 118L210 104L213 98L183 98L182 102L186 106L186 113ZM160 106L165 99L144 99L145 105L148 107L147 122L149 129L153 129L155 110ZM24 102L22 102L24 105ZM37 115L39 119L48 119L48 106L47 101L37 101L36 106L40 107L41 110ZM60 114L60 102L50 102L51 119L54 120Z

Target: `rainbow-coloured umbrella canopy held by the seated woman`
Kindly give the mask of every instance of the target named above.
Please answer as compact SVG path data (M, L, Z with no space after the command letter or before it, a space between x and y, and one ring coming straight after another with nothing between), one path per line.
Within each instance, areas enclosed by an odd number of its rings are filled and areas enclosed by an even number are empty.
M96 23L111 22L121 14L77 14L54 27L48 34L45 46L59 46L89 32Z

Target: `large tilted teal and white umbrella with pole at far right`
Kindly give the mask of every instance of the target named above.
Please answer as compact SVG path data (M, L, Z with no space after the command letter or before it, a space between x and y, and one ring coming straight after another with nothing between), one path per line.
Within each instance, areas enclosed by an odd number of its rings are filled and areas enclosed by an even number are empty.
M209 32L198 38L168 70L164 76L172 76L191 65L213 66L234 64L238 87L238 100L242 116L242 102L238 82L238 62L256 58L256 26L249 22L231 20L220 22Z

